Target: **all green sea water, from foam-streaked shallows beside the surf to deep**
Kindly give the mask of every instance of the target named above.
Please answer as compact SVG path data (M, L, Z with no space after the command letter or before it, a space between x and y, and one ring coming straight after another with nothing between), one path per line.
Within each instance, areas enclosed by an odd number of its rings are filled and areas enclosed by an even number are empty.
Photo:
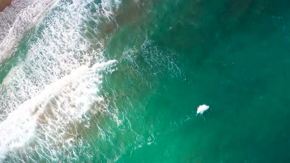
M105 58L118 62L99 92L108 108L89 116L89 129L79 135L87 147L74 149L77 159L63 153L60 160L290 162L289 5L122 1L116 31L103 29ZM21 42L18 50L26 48ZM25 58L15 53L1 65L0 81ZM202 104L210 109L196 115Z

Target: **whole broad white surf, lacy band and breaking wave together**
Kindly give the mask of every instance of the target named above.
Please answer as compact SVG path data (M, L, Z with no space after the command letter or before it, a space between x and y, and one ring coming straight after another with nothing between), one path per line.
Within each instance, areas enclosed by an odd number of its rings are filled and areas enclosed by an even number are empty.
M0 162L78 158L74 147L86 144L86 112L103 100L102 72L115 70L102 53L107 37L98 33L102 20L114 22L110 4L60 0L35 26L20 52L25 59L0 84Z

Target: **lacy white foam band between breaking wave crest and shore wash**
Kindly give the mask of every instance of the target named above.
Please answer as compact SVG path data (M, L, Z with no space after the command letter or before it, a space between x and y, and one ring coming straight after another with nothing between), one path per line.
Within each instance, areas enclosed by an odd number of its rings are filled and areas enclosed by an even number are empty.
M72 69L105 61L102 49L106 37L97 33L103 16L99 5L89 0L60 2L48 13L38 25L39 32L28 41L25 60L13 67L0 85L0 121ZM96 12L91 13L92 9ZM87 20L95 26L88 26Z

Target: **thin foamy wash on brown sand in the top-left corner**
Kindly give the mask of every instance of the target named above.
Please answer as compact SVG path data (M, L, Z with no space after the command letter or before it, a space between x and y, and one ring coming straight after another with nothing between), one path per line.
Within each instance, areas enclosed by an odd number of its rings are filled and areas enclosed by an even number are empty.
M13 0L0 12L0 63L11 49L56 0Z

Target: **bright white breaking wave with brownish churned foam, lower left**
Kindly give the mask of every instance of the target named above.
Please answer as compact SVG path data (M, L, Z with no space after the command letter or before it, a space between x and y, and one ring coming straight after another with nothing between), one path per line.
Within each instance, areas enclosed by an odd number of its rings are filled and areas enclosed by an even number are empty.
M71 149L73 142L80 141L77 136L81 130L77 128L89 118L87 110L93 103L103 101L98 95L103 78L101 72L113 72L115 65L116 60L110 60L91 68L81 66L11 112L0 123L0 160L10 153L10 157L17 156L14 159L21 161L20 148L23 150L21 156L26 159L35 148L46 148L45 153L38 150L40 156L58 160L54 152L61 154Z

